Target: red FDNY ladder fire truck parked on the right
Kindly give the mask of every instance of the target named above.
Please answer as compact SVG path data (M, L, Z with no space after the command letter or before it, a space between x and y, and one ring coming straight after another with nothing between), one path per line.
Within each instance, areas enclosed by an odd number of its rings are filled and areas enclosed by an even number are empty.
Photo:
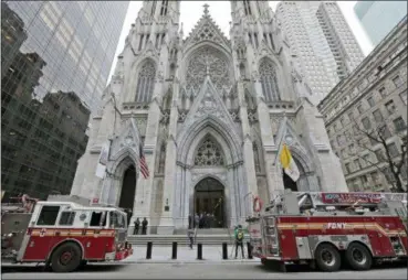
M286 271L310 265L368 270L407 258L406 193L291 192L247 219L252 256Z

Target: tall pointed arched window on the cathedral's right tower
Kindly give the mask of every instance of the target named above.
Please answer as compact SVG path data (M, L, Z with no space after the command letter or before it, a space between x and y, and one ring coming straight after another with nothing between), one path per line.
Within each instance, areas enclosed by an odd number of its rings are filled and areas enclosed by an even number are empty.
M263 60L259 67L259 73L261 75L262 91L266 103L281 100L276 71L272 63L268 60Z

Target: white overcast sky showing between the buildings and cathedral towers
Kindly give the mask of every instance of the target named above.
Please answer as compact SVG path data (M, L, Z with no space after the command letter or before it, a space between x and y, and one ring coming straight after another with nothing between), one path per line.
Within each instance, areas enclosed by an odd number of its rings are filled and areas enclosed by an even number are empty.
M211 18L221 29L227 37L229 37L229 22L231 21L231 3L230 1L181 1L181 11L180 11L180 22L184 24L184 33L185 37L188 36L190 31L193 29L198 20L202 15L203 8L202 6L208 2L209 11ZM280 1L269 1L270 7L273 11L276 9L276 4ZM347 23L352 28L354 35L356 36L359 45L365 55L369 54L373 50L373 45L367 39L366 33L363 31L362 25L358 23L358 20L354 13L354 6L357 1L337 1L339 8L343 11L344 17L346 18ZM119 37L119 42L116 49L115 60L112 64L112 69L109 74L113 74L113 71L116 66L117 55L123 51L125 39L129 33L130 24L135 22L138 11L142 8L142 1L130 1L129 9L126 14L125 23L122 30L122 34Z

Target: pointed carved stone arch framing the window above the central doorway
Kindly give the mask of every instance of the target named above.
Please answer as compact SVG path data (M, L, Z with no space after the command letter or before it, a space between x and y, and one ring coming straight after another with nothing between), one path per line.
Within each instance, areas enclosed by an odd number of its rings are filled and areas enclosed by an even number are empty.
M191 129L192 128L192 129ZM177 161L188 164L192 162L192 146L197 146L208 133L211 133L222 147L227 164L242 161L240 137L232 127L224 125L215 117L203 117L185 129L178 137ZM229 153L226 153L229 151Z

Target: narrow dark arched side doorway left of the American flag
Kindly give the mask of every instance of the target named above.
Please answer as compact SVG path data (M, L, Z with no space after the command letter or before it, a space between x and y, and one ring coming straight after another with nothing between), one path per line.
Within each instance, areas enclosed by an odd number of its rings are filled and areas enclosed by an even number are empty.
M135 201L136 193L136 169L135 165L129 165L122 181L122 191L118 206L125 209L132 209Z

